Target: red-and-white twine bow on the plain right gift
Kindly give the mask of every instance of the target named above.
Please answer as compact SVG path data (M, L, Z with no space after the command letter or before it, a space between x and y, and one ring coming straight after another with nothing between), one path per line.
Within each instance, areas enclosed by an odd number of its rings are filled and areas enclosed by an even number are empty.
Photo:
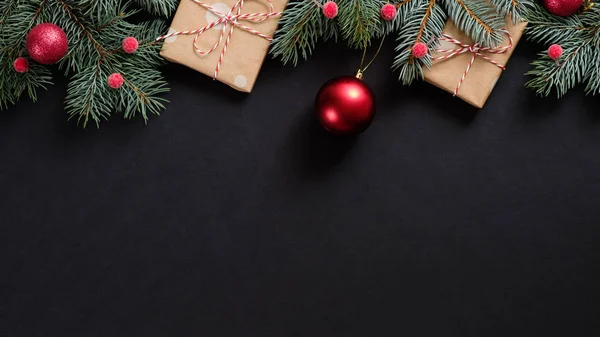
M482 47L478 43L476 43L474 45L470 45L470 44L463 43L463 42L453 38L449 34L446 34L446 33L442 34L442 37L440 38L441 41L448 41L448 42L454 43L458 47L455 49L436 49L436 52L445 53L445 55L433 57L432 60L434 60L434 61L447 60L451 57L461 55L464 53L472 53L473 54L473 56L471 57L471 61L467 65L467 69L465 70L462 77L458 81L458 85L456 86L456 89L454 89L454 93L453 93L454 96L456 96L456 94L458 93L458 90L460 89L462 82L465 80L465 77L467 77L467 74L469 73L469 70L471 70L471 66L473 65L473 62L475 62L475 59L477 57L481 57L482 59L490 62L491 64L497 66L498 68L500 68L502 70L506 69L504 65L494 61L489 56L483 54L484 52L491 53L491 54L504 54L513 47L513 39L512 39L512 36L510 35L510 33L506 29L501 29L499 31L508 36L509 43L507 46L491 48L491 47Z

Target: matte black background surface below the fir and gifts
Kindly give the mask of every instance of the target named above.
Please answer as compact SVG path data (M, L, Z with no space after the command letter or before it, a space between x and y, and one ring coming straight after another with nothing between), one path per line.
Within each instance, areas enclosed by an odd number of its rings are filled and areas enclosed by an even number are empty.
M392 47L356 141L311 118L334 45L249 96L169 65L148 126L63 82L1 113L0 336L599 336L597 98L536 98L522 43L476 112Z

